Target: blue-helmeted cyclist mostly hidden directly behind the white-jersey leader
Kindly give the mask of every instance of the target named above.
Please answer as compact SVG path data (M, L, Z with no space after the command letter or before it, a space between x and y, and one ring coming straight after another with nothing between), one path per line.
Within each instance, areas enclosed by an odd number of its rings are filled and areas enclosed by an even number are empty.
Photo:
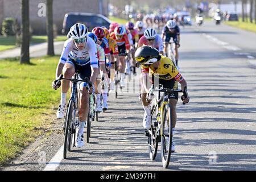
M102 98L103 98L103 93L105 93L105 88L107 88L106 92L108 93L108 86L105 86L105 77L106 74L106 67L105 67L105 52L104 49L97 44L98 42L98 38L95 34L93 34L92 32L89 32L88 36L90 38L92 38L94 40L94 42L96 43L97 46L97 56L98 56L98 61L100 64L100 69L98 70L98 77L97 77L97 81L95 82L95 94L96 94L96 112L101 112L102 111L102 106L101 106L101 93L102 93ZM99 77L100 75L100 77ZM104 77L104 88L100 88L100 80L101 78ZM106 102L106 101L105 101Z

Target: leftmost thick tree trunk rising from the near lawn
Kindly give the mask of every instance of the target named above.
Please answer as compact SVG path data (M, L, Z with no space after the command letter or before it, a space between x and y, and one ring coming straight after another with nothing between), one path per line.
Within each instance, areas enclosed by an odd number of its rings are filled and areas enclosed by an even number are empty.
M21 52L20 64L30 63L30 15L29 15L29 1L22 0L22 39L21 39Z

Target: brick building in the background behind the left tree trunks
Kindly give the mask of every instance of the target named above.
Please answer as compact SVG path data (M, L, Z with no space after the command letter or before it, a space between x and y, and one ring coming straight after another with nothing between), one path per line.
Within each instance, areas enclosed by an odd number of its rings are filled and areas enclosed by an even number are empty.
M34 34L46 34L46 0L30 0L30 25ZM53 24L61 32L65 13L83 12L108 15L108 0L53 0ZM6 17L21 20L21 0L0 0L0 26Z

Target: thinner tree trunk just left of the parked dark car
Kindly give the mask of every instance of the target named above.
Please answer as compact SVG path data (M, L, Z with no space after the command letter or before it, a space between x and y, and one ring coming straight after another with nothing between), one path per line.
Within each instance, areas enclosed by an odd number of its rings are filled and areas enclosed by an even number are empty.
M52 5L53 5L53 0L47 0L47 37L48 37L47 55L54 56Z

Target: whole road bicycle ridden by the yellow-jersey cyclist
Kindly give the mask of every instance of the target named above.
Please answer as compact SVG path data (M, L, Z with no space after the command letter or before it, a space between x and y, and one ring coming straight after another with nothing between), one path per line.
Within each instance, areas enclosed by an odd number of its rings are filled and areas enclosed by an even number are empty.
M168 98L170 98L171 94L183 92L183 90L161 87L162 85L159 88L154 88L154 85L152 85L150 88L149 97L153 95L154 91L157 91L158 98L154 98L151 101L151 127L146 130L146 136L148 137L150 159L155 160L158 143L160 142L163 167L168 168L171 159L172 129L174 124L171 116L172 107L168 102ZM164 93L162 96L161 92ZM147 102L149 102L148 97Z

